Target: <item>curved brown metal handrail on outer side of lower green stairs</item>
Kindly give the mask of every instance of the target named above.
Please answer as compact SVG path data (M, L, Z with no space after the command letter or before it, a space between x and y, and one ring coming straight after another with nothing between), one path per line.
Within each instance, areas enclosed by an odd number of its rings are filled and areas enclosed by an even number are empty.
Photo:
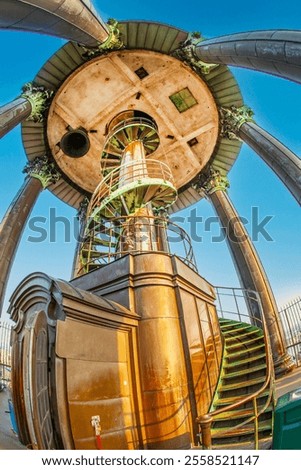
M236 290L241 290L243 291L243 289L236 289ZM256 299L257 299L257 302L259 304L259 306L261 307L261 302L260 302L260 298L257 294L257 292L254 292L254 291L248 291L249 293L252 293L255 295ZM244 316L244 315L243 315ZM204 449L211 449L212 448L212 436L211 436L211 426L212 426L212 423L214 421L214 419L222 414L222 413L226 413L228 411L232 411L236 408L239 408L240 406L252 401L252 406L253 406L253 410L254 410L254 415L251 416L251 418L248 418L246 420L244 420L243 422L239 423L238 425L236 426L233 426L232 429L239 429L240 427L243 427L245 424L247 423L250 423L254 420L254 435L255 435L255 449L258 449L258 417L265 412L265 410L268 408L268 406L270 405L271 403L271 400L272 400L272 389L271 389L271 381L273 381L273 366L272 366L272 351L271 351L271 346L270 346L270 342L269 342L269 337L268 337L268 330L267 330L267 326L266 326L266 320L264 318L264 315L262 314L262 307L261 307L261 323L262 323L262 326L263 326L263 335L264 335L264 343L265 343L265 349L266 349L266 356L267 356L267 368L266 368L266 376L265 376L265 381L263 383L263 385L259 388L259 390L257 390L256 392L253 392L251 393L250 395L248 395L247 397L244 397L240 400L237 400L235 401L234 403L232 403L231 405L227 405L225 407L222 407L218 410L215 410L215 411L212 411L212 412L209 412L205 415L202 415L202 416L199 416L197 418L197 422L199 423L200 427L201 427L201 433L202 433L202 446ZM258 318L257 317L254 317L254 319L256 319L256 322L258 322ZM267 401L265 403L265 405L263 406L263 408L261 409L260 413L258 412L258 409L257 409L257 398L268 388L268 386L270 386L270 393L268 395L268 398L267 398ZM220 432L220 433L216 433L215 436L218 436L218 435L221 435L223 434L224 431Z

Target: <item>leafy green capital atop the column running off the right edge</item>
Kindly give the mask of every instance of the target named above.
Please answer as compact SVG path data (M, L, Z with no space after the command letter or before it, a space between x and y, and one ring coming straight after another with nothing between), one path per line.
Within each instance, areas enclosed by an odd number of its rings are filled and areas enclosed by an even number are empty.
M253 122L254 112L249 106L220 107L221 136L230 140L239 139L238 132L245 122Z

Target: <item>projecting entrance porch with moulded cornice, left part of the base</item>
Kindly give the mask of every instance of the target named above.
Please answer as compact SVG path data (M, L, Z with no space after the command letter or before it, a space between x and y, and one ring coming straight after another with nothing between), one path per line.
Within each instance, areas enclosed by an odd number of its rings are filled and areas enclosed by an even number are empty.
M22 442L32 448L96 449L91 416L100 415L104 448L140 447L139 317L41 273L18 286L10 313L13 399Z

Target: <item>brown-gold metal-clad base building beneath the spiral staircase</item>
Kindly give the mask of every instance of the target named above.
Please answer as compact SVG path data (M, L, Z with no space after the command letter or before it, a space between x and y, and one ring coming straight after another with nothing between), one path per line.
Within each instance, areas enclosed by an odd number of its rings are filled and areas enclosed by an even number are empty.
M94 449L90 420L99 415L105 449L196 444L195 420L210 405L222 353L213 301L204 279L163 254L128 255L72 284L29 276L10 312L21 441Z

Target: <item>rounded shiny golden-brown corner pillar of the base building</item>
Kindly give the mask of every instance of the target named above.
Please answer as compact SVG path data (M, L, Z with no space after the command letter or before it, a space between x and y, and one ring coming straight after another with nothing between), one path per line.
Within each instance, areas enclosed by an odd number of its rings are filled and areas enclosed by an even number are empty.
M147 449L189 449L191 402L169 257L142 254L132 259L142 404ZM117 270L117 272L119 272Z

